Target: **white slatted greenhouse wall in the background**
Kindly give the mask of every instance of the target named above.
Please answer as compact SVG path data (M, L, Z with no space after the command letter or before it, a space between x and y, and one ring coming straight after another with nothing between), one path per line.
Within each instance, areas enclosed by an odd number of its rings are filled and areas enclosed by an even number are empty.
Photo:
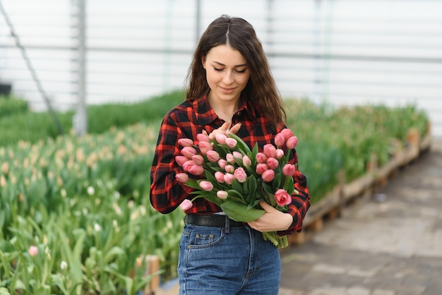
M197 33L197 4L200 31ZM442 1L86 1L86 101L135 102L182 88L196 39L223 13L254 25L285 97L417 104L442 137ZM54 106L78 101L75 1L3 0ZM0 14L0 83L44 109Z

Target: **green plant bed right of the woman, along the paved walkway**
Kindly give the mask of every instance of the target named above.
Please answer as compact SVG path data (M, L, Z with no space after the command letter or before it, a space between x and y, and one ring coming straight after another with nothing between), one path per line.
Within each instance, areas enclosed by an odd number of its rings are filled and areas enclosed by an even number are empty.
M313 203L336 186L339 175L349 183L366 173L372 159L378 167L385 165L408 144L410 129L422 137L429 133L427 114L413 104L336 108L287 100L287 114L287 125L299 134L299 168L307 176Z

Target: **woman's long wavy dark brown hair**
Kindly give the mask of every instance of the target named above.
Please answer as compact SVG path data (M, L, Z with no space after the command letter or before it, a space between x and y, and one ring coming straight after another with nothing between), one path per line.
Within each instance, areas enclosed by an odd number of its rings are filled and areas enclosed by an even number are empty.
M249 82L243 90L246 99L257 107L258 112L271 119L273 124L285 122L285 104L270 72L261 41L258 40L253 26L243 18L220 16L205 30L193 54L193 61L187 74L186 81L189 83L187 98L198 99L208 92L209 85L205 78L202 59L207 56L210 49L223 44L237 49L246 59L250 71Z

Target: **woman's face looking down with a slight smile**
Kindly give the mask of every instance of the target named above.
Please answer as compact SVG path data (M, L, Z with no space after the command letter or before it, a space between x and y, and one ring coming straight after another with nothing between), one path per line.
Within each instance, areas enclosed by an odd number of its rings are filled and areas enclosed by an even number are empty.
M225 102L239 100L250 77L244 56L228 45L218 45L210 49L202 62L210 88L209 97Z

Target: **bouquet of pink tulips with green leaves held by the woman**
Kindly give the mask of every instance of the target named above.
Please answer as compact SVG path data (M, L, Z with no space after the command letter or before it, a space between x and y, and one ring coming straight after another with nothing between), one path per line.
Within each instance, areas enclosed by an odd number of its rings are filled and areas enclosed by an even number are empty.
M203 133L198 143L189 138L179 139L183 147L175 157L185 172L177 180L195 188L192 200L184 200L180 207L188 210L196 198L205 198L221 207L229 218L237 222L251 222L264 214L261 200L278 210L287 210L295 192L293 176L295 167L289 164L289 151L297 146L297 137L288 128L275 136L275 145L258 145L250 150L241 138L230 133L220 133L210 140ZM193 180L189 174L200 176ZM297 193L297 192L296 192ZM263 238L278 248L288 246L287 236L276 231L263 232Z

